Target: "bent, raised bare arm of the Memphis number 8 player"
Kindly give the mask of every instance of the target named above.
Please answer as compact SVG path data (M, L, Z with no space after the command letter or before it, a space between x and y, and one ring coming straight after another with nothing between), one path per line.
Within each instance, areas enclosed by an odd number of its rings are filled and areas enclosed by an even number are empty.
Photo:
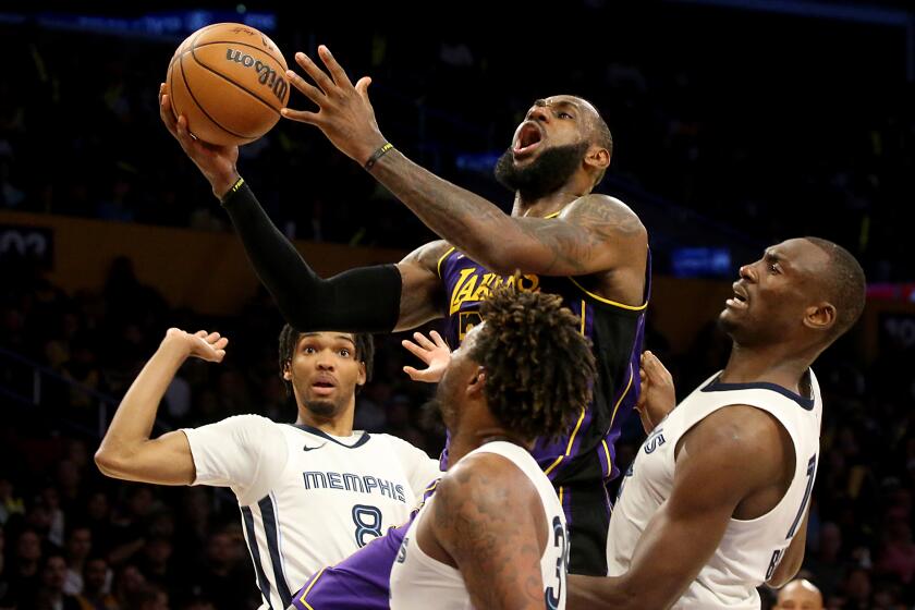
M156 412L181 365L191 356L221 362L229 342L218 332L188 334L169 329L121 401L95 461L102 474L125 480L191 485L194 459L187 437L172 431L150 439Z

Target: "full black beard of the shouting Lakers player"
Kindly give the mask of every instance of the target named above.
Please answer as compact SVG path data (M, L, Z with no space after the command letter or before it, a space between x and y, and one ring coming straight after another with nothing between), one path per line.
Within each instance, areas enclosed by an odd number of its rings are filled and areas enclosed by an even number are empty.
M582 166L589 146L588 142L551 146L523 168L514 164L512 149L509 148L499 158L493 173L496 180L512 193L521 192L524 197L536 199L559 191L569 182Z

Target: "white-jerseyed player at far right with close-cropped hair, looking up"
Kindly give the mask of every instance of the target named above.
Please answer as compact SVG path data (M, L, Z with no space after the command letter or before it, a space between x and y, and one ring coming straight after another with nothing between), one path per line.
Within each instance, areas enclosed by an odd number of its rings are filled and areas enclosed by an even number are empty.
M610 520L609 577L570 578L570 608L759 608L800 569L822 404L810 365L861 316L844 248L789 240L741 267L719 317L725 368L658 423Z

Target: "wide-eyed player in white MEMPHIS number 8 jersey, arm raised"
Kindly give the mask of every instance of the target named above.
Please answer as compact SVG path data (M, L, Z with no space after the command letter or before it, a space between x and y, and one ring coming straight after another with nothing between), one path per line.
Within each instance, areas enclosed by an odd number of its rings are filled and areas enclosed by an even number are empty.
M353 431L356 388L371 375L370 334L283 329L280 366L298 407L295 425L239 415L150 439L181 364L220 362L225 344L218 333L170 329L121 402L96 463L126 480L231 488L261 608L285 608L320 566L405 522L441 473L405 441Z

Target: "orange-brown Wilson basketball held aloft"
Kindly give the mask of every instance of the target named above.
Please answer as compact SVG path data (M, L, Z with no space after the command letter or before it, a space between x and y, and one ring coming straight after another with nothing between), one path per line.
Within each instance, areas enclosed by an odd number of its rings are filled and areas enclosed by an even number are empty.
M253 27L217 23L188 36L169 62L166 83L175 117L216 145L242 145L266 134L289 101L286 62Z

